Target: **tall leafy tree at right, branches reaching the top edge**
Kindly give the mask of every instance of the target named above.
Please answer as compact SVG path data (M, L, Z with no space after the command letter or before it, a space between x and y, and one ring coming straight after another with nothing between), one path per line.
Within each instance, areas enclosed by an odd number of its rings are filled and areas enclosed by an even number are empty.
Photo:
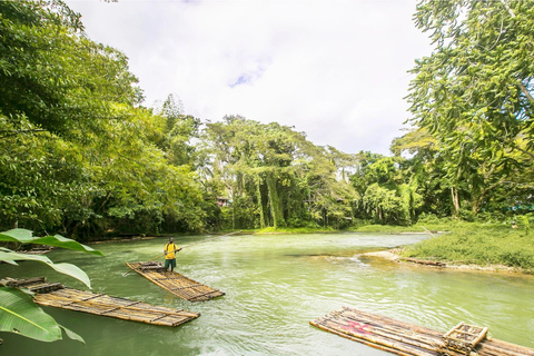
M412 70L411 121L439 142L449 188L477 212L534 162L532 1L435 1L415 22L436 46ZM532 180L528 181L532 186Z

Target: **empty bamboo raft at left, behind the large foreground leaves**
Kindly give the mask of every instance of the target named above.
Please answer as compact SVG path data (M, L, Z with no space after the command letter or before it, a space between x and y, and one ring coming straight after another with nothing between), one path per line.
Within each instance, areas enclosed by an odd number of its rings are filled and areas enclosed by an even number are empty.
M60 283L47 283L44 277L4 280L3 285L27 288L36 295L33 301L56 308L83 312L123 320L152 325L178 326L200 316L199 313L154 306L142 301L111 297L106 294L67 288Z

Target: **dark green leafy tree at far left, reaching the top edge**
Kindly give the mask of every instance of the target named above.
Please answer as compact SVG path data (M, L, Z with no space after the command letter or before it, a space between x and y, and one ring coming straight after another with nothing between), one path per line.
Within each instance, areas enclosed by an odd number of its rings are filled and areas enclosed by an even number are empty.
M0 2L0 226L43 231L69 211L91 216L85 158L140 100L127 58L82 30L60 0Z

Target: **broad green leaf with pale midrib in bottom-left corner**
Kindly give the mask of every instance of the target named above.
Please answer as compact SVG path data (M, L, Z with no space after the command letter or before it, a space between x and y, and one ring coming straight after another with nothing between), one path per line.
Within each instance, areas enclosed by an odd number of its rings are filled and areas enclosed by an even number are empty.
M0 287L0 330L20 334L40 342L61 339L56 320L38 307L22 290Z

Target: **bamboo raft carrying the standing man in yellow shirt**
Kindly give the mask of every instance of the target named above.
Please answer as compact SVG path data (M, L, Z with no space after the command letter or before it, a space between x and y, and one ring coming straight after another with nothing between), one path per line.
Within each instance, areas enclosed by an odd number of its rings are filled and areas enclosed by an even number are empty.
M224 291L205 286L177 271L166 270L160 261L126 265L159 287L188 301L209 300L225 295Z

